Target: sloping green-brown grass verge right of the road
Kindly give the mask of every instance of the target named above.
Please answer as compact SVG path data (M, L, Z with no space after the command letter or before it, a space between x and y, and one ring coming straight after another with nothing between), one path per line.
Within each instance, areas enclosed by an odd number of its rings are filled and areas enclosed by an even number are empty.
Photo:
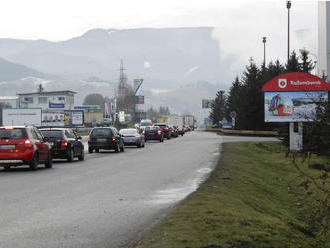
M330 247L329 233L310 224L322 195L313 185L303 187L285 152L277 142L224 144L209 179L134 247ZM317 156L310 162L329 164ZM311 176L321 173L302 161L300 166ZM324 182L329 189L329 180Z

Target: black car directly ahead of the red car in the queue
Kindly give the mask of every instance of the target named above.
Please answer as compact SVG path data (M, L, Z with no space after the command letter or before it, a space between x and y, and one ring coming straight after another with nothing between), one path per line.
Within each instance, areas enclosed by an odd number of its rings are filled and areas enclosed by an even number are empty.
M48 138L53 158L67 159L69 162L75 157L79 160L85 159L81 137L76 136L71 128L43 128L40 132Z

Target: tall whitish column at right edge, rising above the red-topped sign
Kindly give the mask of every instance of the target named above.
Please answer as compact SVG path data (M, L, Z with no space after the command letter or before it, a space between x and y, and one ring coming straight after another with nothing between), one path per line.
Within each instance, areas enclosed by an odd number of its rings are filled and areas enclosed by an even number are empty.
M330 81L330 2L318 3L318 75Z

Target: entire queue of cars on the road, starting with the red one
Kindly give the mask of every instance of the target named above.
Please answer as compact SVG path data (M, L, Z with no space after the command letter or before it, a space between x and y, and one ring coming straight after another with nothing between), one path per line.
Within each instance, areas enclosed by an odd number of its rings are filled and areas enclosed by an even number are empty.
M101 149L124 152L125 146L145 147L148 140L178 137L178 129L151 121L136 128L118 131L114 127L94 127L88 136L88 152L98 153ZM183 135L183 133L181 134ZM85 159L82 137L70 128L41 128L34 126L0 127L0 167L27 165L36 170L40 164L52 168L53 159Z

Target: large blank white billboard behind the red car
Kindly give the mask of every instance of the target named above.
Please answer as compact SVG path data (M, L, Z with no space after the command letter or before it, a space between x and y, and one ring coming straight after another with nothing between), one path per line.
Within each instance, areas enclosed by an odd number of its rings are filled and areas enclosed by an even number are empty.
M35 109L3 109L3 126L41 126L41 108Z

